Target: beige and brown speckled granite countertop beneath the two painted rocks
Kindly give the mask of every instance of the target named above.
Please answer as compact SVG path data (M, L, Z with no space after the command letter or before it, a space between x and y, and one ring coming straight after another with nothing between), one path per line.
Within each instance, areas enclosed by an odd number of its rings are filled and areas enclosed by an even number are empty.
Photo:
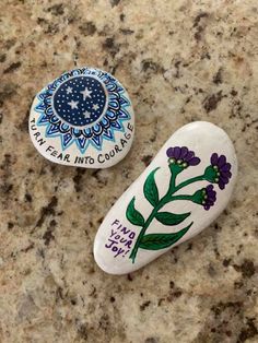
M257 1L2 0L0 13L0 342L258 342ZM52 164L27 132L35 93L84 64L134 104L132 149L105 170ZM230 205L144 269L105 274L99 223L192 120L235 144Z

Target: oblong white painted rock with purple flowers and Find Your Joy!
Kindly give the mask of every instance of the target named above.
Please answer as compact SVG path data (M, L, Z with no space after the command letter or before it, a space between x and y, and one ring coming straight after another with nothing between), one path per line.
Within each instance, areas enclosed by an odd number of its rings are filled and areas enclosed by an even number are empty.
M94 243L107 273L138 270L199 234L225 209L237 174L234 146L219 127L176 131L115 203Z

